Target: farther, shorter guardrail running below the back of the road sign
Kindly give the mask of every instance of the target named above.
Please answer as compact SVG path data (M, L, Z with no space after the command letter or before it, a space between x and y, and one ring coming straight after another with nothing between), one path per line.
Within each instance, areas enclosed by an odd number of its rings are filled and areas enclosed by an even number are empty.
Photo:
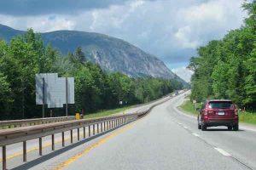
M59 116L59 117L46 117L38 119L22 119L11 121L0 121L0 128L13 128L13 127L28 127L39 124L46 124L52 122L65 122L75 120L76 116Z

